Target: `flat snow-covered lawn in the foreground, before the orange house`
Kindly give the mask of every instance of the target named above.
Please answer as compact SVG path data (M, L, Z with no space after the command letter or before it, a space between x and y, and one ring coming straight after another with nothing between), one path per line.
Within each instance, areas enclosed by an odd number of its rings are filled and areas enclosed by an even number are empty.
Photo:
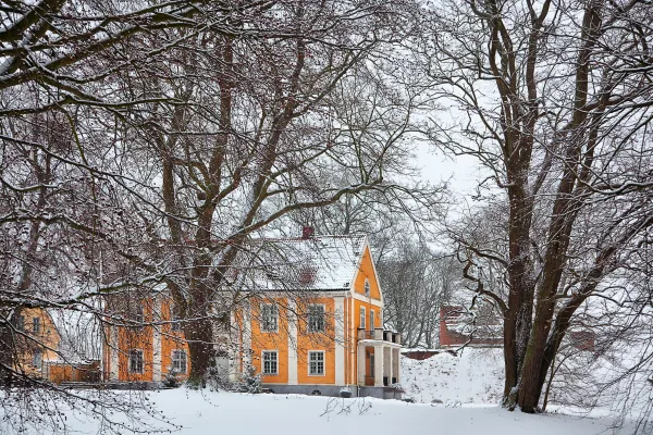
M597 435L611 424L609 420L528 415L496 407L447 408L398 400L202 394L185 388L146 395L171 423L183 426L180 433L184 435L333 435L355 431L374 435ZM97 433L97 425L84 420L69 422L84 433Z

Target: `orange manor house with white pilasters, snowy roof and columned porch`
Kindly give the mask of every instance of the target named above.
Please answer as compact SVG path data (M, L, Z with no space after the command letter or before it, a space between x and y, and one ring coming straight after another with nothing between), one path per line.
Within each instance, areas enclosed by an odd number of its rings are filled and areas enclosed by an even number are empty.
M247 303L232 312L229 332L215 326L221 376L235 382L254 372L279 394L401 397L401 335L383 328L366 235L312 236L305 227L300 238L257 240L252 251L258 266L235 268L229 279L229 291ZM158 306L170 319L169 303ZM107 336L114 337L104 352L112 381L157 383L188 372L181 331L145 326L135 341L123 331Z

